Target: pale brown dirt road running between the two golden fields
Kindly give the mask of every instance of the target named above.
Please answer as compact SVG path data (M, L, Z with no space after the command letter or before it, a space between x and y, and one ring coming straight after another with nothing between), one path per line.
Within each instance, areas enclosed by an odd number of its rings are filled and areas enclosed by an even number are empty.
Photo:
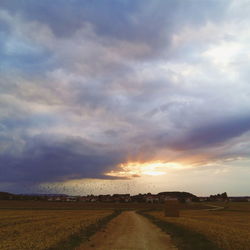
M133 211L123 212L110 221L78 250L163 250L177 249L170 236Z

